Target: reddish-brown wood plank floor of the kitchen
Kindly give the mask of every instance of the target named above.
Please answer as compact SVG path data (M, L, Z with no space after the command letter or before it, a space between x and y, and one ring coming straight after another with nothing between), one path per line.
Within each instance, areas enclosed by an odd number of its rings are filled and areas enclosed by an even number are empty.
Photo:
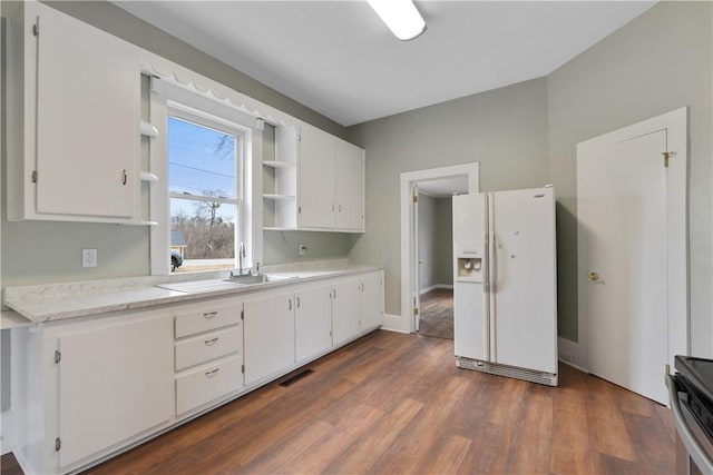
M553 388L379 330L92 474L672 474L670 410L566 365ZM4 469L2 475L6 475Z

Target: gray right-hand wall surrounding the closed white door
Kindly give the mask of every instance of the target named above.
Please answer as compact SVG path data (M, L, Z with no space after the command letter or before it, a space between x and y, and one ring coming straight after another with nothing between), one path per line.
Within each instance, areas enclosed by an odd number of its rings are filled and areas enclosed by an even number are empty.
M559 333L568 339L577 339L576 144L688 106L692 350L713 354L711 17L711 2L661 2L547 78Z

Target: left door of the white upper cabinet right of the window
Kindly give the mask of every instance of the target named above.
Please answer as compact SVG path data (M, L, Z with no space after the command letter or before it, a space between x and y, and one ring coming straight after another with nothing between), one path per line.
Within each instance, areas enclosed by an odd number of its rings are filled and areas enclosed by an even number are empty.
M302 127L299 158L297 226L334 227L334 139L330 135Z

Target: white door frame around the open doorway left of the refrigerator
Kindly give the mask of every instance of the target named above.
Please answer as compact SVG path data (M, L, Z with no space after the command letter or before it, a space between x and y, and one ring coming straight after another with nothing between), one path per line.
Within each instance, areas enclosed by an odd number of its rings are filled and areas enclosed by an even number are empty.
M413 256L416 256L413 219L413 186L419 181L428 181L438 178L450 178L458 176L468 177L468 192L479 192L480 164L477 161L450 167L430 168L418 171L406 171L401 174L401 318L395 330L404 333L414 331L413 308L411 298L418 290L419 283L414 273ZM416 265L418 266L418 259Z

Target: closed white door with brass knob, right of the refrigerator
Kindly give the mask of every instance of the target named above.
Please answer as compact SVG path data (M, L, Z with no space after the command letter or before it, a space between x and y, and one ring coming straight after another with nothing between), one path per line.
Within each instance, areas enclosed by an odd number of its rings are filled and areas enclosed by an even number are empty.
M666 128L657 127L577 154L578 296L589 370L662 404L664 367L672 353L686 350L676 336L685 306L673 315L668 301L676 275L668 195L678 191L664 166L668 147ZM672 160L685 169L685 149L676 154Z

